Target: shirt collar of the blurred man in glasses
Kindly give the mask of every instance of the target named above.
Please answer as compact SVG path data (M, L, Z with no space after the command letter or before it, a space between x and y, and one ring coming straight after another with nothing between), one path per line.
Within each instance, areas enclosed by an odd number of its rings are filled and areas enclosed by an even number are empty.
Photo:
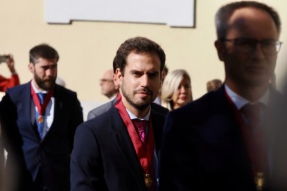
M241 109L247 103L254 103L254 102L250 102L249 100L246 100L245 98L239 96L237 93L232 91L227 86L227 84L225 84L225 90L226 90L226 93L229 96L229 98L231 98L232 102L234 102L237 109ZM263 94L263 96L259 100L257 100L256 102L261 102L262 104L267 106L269 97L270 97L270 89L267 89L266 92Z

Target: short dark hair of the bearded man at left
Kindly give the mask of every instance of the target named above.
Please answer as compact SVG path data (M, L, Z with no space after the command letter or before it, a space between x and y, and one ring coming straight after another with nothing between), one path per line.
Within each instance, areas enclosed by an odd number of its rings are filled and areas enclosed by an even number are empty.
M31 48L29 52L30 63L35 64L38 58L44 58L46 60L56 59L59 60L59 54L55 48L49 46L48 44L39 44Z

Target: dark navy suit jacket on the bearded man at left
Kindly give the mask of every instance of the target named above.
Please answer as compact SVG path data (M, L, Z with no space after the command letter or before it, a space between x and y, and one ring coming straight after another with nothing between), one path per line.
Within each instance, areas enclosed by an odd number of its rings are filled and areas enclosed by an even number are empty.
M54 118L43 140L31 124L31 82L8 89L1 101L2 134L8 152L8 179L19 190L33 190L41 170L49 190L69 190L69 160L76 127L83 121L76 93L55 85ZM19 183L18 183L19 181Z

